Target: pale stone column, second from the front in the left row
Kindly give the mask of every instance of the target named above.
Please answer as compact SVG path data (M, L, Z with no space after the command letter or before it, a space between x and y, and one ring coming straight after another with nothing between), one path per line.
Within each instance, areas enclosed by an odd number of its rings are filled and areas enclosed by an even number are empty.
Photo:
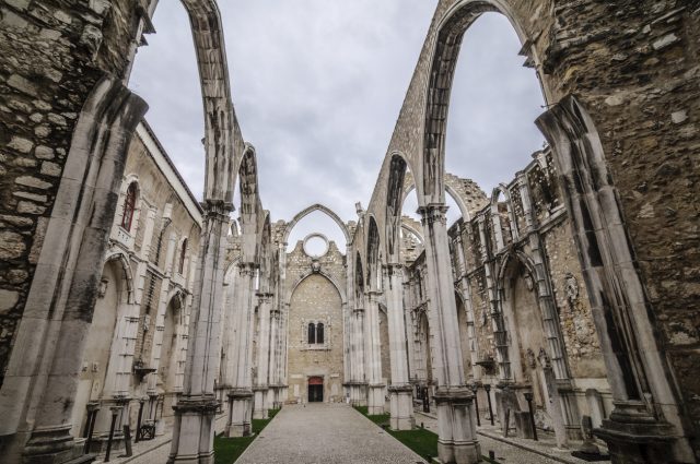
M235 308L233 310L234 382L229 392L228 437L250 435L253 416L253 287L255 286L255 263L240 263L236 281Z

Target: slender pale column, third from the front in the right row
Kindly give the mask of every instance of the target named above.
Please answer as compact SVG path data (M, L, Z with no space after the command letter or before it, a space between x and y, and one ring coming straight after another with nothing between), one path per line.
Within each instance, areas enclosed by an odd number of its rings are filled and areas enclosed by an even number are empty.
M382 383L382 353L380 340L378 292L365 295L364 358L368 380L368 413L384 414L384 383Z

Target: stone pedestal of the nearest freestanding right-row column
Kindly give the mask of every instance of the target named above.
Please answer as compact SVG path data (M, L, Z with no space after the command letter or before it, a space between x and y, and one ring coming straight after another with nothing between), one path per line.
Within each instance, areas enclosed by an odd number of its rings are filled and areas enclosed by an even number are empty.
M434 398L438 408L440 461L444 464L480 462L474 393L467 388L440 388Z

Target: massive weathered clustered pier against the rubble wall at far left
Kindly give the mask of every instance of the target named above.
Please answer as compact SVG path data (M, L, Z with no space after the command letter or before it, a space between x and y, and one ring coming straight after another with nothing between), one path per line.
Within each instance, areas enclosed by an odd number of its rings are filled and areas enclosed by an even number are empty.
M78 374L128 146L147 108L109 78L83 106L0 391L8 462L62 463L80 452L70 436Z

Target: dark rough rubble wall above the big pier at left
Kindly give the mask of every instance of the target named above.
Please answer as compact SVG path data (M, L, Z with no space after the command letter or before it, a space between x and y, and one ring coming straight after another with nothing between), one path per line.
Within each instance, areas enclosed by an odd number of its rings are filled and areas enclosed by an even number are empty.
M0 2L0 385L78 116L130 60L133 1L110 3Z

